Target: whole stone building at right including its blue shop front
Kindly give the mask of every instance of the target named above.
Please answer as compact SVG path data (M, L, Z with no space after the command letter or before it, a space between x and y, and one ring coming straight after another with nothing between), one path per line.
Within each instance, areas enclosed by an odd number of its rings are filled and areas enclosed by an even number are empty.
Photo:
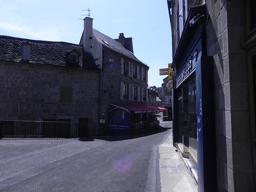
M198 191L256 191L255 1L167 0L173 145Z

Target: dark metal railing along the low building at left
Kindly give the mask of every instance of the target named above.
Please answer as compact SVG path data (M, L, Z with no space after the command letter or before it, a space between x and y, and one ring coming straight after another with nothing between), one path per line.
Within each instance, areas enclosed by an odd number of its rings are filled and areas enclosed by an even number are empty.
M80 138L108 136L104 123L0 120L0 137Z

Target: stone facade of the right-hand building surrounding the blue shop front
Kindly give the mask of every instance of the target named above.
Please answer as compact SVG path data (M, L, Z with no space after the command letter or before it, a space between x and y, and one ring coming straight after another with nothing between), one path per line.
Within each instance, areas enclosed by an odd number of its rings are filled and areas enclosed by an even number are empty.
M187 13L190 6L205 4L209 16L205 56L213 57L217 190L255 191L255 3L167 0L172 8L173 56L180 40L180 2L188 5Z

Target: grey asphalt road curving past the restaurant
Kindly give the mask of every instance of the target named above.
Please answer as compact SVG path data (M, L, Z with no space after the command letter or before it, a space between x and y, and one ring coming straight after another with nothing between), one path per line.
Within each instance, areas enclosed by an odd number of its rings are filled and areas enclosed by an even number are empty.
M144 192L152 148L170 132L160 125L135 136L0 140L0 191Z

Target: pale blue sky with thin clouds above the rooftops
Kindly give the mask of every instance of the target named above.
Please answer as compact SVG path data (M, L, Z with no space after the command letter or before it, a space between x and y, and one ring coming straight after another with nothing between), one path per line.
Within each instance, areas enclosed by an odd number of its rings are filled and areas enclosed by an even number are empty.
M79 44L90 9L93 28L132 37L134 55L149 66L148 86L161 87L172 63L167 0L0 0L0 35Z

